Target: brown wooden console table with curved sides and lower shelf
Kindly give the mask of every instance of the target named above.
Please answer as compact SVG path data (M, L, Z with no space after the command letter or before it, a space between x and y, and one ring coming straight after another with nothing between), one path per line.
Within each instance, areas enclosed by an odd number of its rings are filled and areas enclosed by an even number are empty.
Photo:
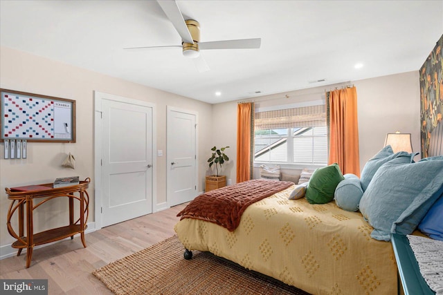
M17 256L21 254L21 250L26 248L26 268L30 265L30 260L33 256L33 248L37 245L62 240L64 238L74 238L75 234L80 234L82 244L86 248L84 240L84 230L87 228L89 195L87 188L89 187L90 178L80 181L79 184L71 185L69 187L58 187L53 189L52 183L38 184L38 188L30 191L17 191L6 188L8 199L12 200L8 210L8 232L17 240L12 243L13 248L19 249ZM45 189L44 187L47 187ZM34 234L33 226L33 211L40 205L52 200L54 198L67 197L69 198L69 225L64 227L57 227ZM37 198L45 198L41 202L34 204ZM80 216L74 220L74 200L80 202ZM26 214L25 214L26 204ZM11 218L14 213L18 211L19 219L19 234L12 228ZM26 233L24 232L24 216L26 215Z

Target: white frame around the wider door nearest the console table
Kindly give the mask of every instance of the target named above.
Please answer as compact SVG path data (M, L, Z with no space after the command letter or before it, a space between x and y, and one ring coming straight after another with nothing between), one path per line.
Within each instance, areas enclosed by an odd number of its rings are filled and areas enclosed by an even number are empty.
M152 108L152 213L156 212L157 204L157 181L156 181L156 108L155 104L144 102L143 100L112 95L94 91L94 219L96 230L102 228L102 100L112 100L137 106Z

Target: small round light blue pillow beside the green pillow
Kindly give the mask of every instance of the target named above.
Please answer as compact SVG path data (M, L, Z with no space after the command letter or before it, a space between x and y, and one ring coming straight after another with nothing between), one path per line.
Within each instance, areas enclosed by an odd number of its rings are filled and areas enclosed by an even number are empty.
M347 175L345 175L345 180L337 185L334 198L338 207L346 211L355 212L359 210L363 189L361 189L359 178L349 178Z

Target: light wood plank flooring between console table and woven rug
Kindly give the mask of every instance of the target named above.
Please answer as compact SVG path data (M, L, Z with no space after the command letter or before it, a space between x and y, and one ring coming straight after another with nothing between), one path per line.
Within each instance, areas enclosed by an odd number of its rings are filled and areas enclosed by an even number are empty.
M96 276L94 269L174 235L177 213L186 204L134 218L93 231L85 236L84 248L80 235L53 245L34 249L33 260L25 268L26 252L0 260L0 278L48 279L48 294L112 294Z

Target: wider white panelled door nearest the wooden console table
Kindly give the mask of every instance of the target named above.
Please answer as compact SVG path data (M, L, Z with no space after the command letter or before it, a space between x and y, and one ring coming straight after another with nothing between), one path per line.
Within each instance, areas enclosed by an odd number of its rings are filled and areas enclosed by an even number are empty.
M152 213L153 110L142 103L101 99L101 227Z

